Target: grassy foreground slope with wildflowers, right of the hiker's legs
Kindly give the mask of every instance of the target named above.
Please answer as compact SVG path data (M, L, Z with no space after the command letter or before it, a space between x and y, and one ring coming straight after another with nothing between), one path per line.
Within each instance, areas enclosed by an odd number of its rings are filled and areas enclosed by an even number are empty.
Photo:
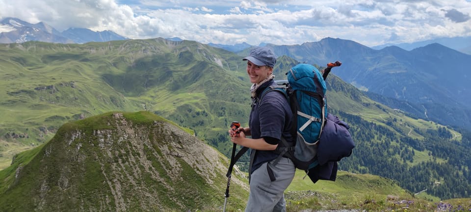
M387 178L339 171L337 180L312 184L297 171L285 192L288 212L351 210L370 212L467 212L471 199L430 200L414 195Z

